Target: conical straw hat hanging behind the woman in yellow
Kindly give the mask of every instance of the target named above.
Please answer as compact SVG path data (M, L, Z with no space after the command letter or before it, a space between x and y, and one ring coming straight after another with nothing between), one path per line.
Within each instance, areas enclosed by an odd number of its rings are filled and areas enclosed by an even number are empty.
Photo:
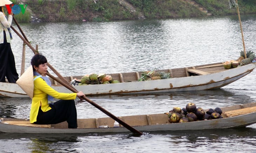
M34 92L33 68L30 66L16 81L23 91L32 99Z

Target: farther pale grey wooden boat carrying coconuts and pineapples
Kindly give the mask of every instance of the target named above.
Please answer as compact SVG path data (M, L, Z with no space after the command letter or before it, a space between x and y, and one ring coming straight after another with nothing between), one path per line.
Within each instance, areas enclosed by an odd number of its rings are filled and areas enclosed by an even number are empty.
M142 71L126 72L108 74L121 83L74 87L78 91L83 91L86 95L148 94L209 90L228 85L249 74L254 68L254 63L231 69L224 69L223 63L213 63L195 67L156 70L170 72L171 78L140 82L137 82L137 80L141 77ZM70 76L65 78L70 82L73 78L80 79L81 77L82 76ZM52 81L53 89L56 91L71 92L56 81L50 80ZM17 84L13 83L0 83L0 95L4 97L28 97Z

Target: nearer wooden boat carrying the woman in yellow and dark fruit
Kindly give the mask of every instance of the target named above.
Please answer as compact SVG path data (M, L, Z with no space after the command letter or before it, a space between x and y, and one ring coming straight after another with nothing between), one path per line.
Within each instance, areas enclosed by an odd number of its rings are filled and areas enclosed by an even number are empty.
M169 123L168 116L162 114L147 114L119 117L139 131L176 131L204 130L246 127L256 123L256 102L221 108L220 119L204 120L187 123ZM110 117L78 119L78 129L68 129L67 122L51 125L31 124L25 119L1 118L0 132L7 133L103 133L128 132L122 127L114 128L114 120ZM107 128L99 128L108 126Z

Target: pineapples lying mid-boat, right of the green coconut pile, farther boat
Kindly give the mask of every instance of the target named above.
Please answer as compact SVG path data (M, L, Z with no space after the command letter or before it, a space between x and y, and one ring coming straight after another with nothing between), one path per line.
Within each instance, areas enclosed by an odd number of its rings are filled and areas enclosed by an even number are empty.
M146 71L141 74L141 78L138 81L148 81L148 80L159 80L159 79L168 79L170 73L167 72L156 72L156 71Z

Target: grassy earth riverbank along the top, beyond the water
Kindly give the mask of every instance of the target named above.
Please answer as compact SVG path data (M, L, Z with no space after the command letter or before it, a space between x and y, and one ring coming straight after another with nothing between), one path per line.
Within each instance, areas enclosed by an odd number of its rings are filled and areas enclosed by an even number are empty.
M12 0L27 4L19 22L113 21L234 15L222 0ZM256 1L240 0L240 14L256 14Z

